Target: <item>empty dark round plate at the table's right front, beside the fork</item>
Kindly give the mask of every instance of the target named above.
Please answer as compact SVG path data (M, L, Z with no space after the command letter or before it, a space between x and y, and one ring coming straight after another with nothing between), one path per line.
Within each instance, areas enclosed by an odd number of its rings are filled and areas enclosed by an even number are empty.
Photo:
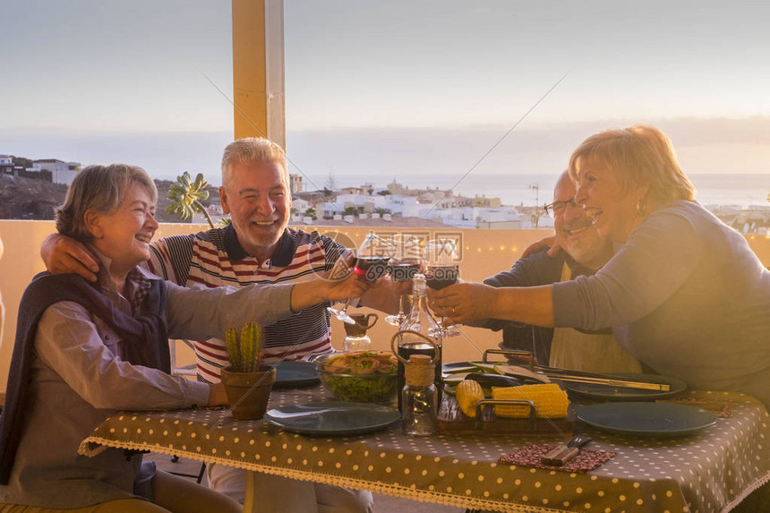
M596 429L636 436L682 436L716 423L716 415L674 403L602 403L577 409L577 418Z

